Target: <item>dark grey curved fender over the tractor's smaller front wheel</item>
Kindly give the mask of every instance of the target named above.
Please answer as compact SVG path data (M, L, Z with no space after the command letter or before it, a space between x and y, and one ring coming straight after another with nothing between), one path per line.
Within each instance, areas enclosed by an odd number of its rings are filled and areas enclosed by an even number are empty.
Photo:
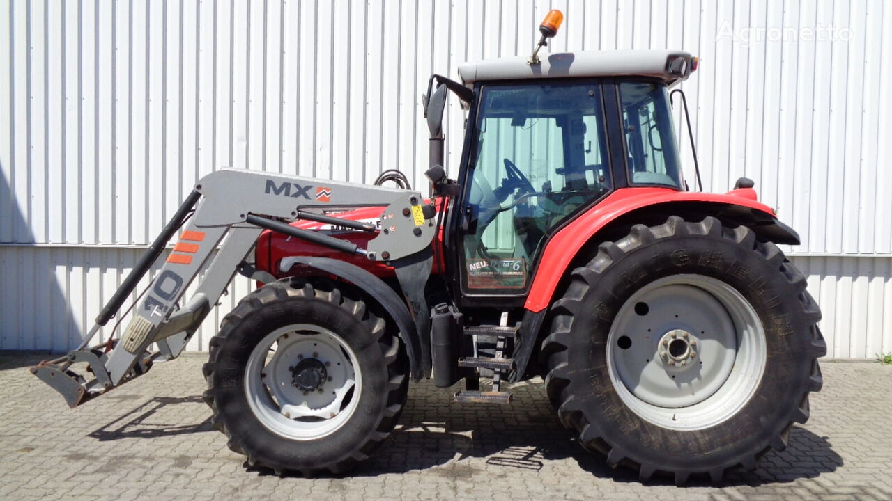
M295 264L335 275L367 292L368 299L376 301L381 308L384 308L384 311L400 330L400 338L406 344L406 352L409 355L409 370L412 378L416 382L421 381L425 374L421 363L421 341L415 322L412 321L412 316L409 314L409 307L389 285L368 271L338 259L295 256L282 259L280 269L287 272Z

